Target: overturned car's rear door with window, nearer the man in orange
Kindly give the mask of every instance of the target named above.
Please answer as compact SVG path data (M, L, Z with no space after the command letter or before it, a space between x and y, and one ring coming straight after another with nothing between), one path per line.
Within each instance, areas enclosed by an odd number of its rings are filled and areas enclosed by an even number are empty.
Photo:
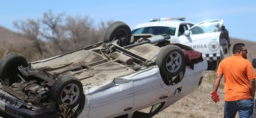
M168 100L169 92L165 89L157 66L145 69L132 77L134 86L133 117L152 117Z

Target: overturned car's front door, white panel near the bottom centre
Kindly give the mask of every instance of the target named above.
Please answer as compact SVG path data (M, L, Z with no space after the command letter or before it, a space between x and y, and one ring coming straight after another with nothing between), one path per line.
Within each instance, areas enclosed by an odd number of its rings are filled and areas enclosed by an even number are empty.
M133 94L133 81L114 84L110 88L89 94L89 117L129 114L133 108Z

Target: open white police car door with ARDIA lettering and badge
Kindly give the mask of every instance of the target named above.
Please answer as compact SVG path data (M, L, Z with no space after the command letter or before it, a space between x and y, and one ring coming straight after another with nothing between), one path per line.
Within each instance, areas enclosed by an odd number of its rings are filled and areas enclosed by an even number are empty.
M207 20L195 24L184 35L179 36L181 44L188 45L194 50L202 52L206 60L222 60L223 50L219 37L223 20Z

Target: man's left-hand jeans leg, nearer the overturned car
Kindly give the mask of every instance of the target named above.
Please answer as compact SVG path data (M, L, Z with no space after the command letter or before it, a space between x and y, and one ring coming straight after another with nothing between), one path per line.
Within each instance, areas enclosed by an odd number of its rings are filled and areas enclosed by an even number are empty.
M236 101L224 102L224 117L234 118L238 112L238 104Z

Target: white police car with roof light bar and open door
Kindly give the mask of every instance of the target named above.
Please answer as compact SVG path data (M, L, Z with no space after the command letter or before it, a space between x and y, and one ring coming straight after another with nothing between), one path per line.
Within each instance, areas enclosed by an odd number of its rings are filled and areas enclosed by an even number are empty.
M152 18L149 22L139 24L132 30L132 34L151 33L171 35L170 41L188 45L194 50L202 52L208 62L208 69L215 70L224 58L223 48L220 46L221 27L223 19L207 20L194 24L181 18Z

